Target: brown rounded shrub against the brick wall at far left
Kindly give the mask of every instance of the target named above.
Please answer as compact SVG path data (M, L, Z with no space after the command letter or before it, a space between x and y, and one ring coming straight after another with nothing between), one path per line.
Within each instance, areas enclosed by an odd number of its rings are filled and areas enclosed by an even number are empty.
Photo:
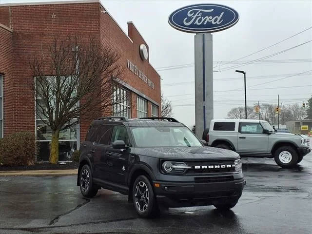
M0 163L5 166L31 165L37 153L33 133L20 132L0 139Z

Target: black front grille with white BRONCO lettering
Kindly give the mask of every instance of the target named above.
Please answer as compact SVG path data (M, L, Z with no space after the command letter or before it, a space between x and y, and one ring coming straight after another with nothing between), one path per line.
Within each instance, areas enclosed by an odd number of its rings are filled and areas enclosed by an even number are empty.
M212 174L212 173L229 173L235 172L235 168L221 168L221 165L233 165L234 160L205 160L205 161L187 161L188 166L192 166L188 169L186 174ZM207 166L207 168L202 168ZM220 168L209 168L209 166L220 166ZM200 167L200 169L195 169Z

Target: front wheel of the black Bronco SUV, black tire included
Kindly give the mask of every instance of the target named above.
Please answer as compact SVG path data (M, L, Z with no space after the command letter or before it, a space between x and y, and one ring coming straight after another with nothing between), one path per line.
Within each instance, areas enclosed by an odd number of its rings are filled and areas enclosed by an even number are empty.
M154 217L159 214L156 196L150 180L146 176L138 176L132 189L133 204L141 217Z

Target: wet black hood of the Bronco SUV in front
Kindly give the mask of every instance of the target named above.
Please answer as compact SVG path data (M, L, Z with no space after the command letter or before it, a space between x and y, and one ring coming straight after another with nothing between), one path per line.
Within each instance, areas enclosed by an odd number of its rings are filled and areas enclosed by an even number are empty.
M164 159L235 159L239 157L231 150L214 147L153 147L135 148L134 153L142 156L150 156Z

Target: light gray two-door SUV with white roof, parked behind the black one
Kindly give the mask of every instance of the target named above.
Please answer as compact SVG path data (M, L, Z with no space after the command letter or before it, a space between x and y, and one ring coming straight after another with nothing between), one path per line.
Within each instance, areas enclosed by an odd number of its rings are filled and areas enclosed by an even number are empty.
M275 133L264 120L214 119L203 139L209 146L230 149L242 157L269 157L284 168L299 163L311 152L305 135Z

